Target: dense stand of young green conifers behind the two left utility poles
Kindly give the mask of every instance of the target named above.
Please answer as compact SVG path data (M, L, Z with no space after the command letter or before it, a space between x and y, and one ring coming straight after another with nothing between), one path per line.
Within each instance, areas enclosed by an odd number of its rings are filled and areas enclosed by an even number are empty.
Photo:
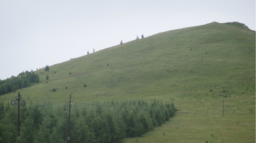
M68 104L29 103L20 107L20 143L66 143ZM177 109L157 100L72 103L70 143L121 143L160 126ZM17 142L17 107L0 103L0 143Z

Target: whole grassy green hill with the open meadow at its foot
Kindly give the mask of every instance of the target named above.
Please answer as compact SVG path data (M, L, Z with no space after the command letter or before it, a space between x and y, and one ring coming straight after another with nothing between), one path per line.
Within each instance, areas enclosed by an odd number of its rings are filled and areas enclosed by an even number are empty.
M167 31L37 70L39 84L0 99L159 99L177 115L126 143L255 142L255 44L255 31L238 22Z

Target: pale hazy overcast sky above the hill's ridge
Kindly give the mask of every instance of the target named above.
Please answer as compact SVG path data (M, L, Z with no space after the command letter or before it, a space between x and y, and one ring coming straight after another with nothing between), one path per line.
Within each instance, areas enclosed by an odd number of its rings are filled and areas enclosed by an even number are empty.
M255 0L0 0L0 79L210 22L255 30Z

